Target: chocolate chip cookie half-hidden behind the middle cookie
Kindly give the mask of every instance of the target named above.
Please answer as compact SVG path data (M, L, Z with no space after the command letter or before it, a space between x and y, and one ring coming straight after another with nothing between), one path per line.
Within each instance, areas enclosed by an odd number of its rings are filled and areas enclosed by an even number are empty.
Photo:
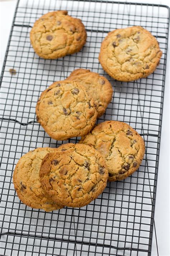
M94 99L98 116L104 114L108 104L112 100L113 89L110 82L98 73L89 69L75 69L66 80L72 80L83 85L88 95Z

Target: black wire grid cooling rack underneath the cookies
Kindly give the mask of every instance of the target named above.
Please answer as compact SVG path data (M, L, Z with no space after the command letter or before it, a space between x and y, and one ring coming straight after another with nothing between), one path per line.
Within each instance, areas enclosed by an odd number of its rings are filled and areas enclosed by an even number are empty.
M29 32L42 14L59 9L82 20L88 33L86 45L64 58L41 59L30 45ZM2 255L151 255L168 24L169 9L162 5L18 1L1 77ZM163 51L160 65L146 79L114 81L98 61L101 41L109 31L134 25L143 26L159 41ZM13 170L24 153L62 143L49 138L36 122L35 106L47 86L80 67L104 75L114 88L112 102L98 122L129 123L143 136L146 154L138 171L125 180L108 183L88 206L46 213L20 202L12 183ZM10 74L11 68L15 75Z

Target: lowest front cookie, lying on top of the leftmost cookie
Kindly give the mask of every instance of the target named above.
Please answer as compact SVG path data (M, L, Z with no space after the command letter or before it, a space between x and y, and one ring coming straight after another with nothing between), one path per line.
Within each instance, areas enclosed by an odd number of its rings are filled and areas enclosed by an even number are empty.
M82 207L103 192L108 169L95 149L68 143L44 157L39 175L44 191L54 201L69 207Z

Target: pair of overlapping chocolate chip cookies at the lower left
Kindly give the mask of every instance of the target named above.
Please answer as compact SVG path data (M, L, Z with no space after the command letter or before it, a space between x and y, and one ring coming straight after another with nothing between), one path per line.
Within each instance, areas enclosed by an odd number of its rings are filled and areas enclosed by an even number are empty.
M88 145L72 143L28 152L13 175L20 200L45 211L87 205L103 192L107 179L101 154Z

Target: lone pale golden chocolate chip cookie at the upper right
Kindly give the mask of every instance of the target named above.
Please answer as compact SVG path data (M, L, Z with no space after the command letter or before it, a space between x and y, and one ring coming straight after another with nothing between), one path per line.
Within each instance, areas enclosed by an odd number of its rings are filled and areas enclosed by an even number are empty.
M133 81L153 73L161 56L156 38L134 26L108 33L101 44L99 62L115 80Z

